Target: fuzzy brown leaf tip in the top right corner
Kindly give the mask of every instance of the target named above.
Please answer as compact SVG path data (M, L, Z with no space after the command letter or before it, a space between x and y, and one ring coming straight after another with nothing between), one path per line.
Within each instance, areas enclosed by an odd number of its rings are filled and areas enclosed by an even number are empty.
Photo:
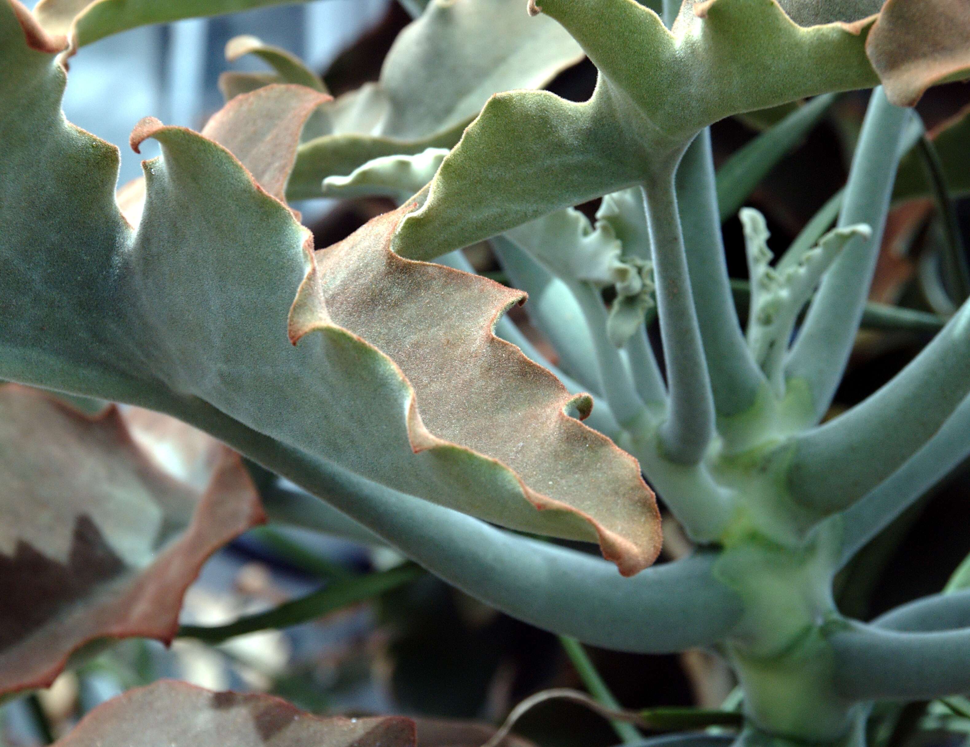
M970 75L965 0L887 0L866 43L889 101L913 106L926 88Z

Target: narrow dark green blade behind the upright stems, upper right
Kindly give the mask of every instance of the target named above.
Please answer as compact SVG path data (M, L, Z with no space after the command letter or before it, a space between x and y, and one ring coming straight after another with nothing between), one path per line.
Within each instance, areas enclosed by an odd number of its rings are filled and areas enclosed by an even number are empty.
M717 175L722 222L737 214L760 181L818 124L833 101L830 93L817 96L731 154Z

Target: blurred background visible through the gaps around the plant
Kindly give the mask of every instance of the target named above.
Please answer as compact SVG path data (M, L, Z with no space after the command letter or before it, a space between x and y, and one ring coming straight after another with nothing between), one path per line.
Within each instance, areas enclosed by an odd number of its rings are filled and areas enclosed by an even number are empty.
M260 69L249 58L225 61L226 42L246 33L299 55L324 73L330 90L339 94L376 80L384 54L409 20L392 0L327 0L135 29L84 48L71 60L65 111L69 119L113 143L126 142L133 125L146 115L200 128L222 104L216 86L221 72ZM586 61L549 87L566 98L585 100L595 78L594 67ZM766 217L772 244L787 246L844 184L866 96L839 96L752 192L747 203ZM968 101L968 85L943 85L923 96L918 111L932 132ZM727 162L787 113L756 113L715 124L718 163ZM941 158L952 156L943 153ZM140 174L141 157L122 149L119 184ZM910 177L922 180L921 188L929 192L932 164L927 154L911 154L907 163ZM943 167L946 171L960 166L944 162ZM940 199L897 203L872 300L943 318L966 296L970 200L952 193L944 197L952 209L949 223L939 209ZM324 200L297 207L313 229L316 245L324 247L390 204L376 199ZM592 216L596 207L593 203L584 210ZM747 267L736 217L727 218L724 231L743 314ZM503 280L486 246L471 247L467 254L479 271ZM512 315L554 358L524 313L515 309ZM909 328L877 323L863 329L833 412L878 389L921 350L935 331L931 317L921 320ZM941 590L953 568L970 553L970 533L952 530L970 526L968 493L970 469L963 464L860 553L839 581L843 611L870 619L908 599ZM667 521L664 529L663 559L689 552L676 526ZM300 531L256 530L210 560L186 597L183 623L218 625L403 563L386 548ZM576 602L582 604L581 599ZM589 649L588 654L625 707L732 706L729 694L734 683L709 653L634 656ZM314 713L393 712L499 724L519 700L537 691L588 687L581 668L556 636L415 571L369 601L343 606L302 625L235 637L217 647L191 638L179 638L168 650L143 640L113 645L62 675L48 691L3 706L0 738L12 747L48 743L98 703L166 676L217 690L274 693ZM871 740L893 746L955 747L970 732L970 701L967 709L961 702L881 707L873 715ZM543 747L599 747L618 741L608 722L564 701L535 707L516 732Z

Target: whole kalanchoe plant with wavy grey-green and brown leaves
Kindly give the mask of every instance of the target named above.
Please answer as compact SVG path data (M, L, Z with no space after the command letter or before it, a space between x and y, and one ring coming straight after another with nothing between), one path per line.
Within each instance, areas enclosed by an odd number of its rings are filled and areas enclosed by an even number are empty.
M408 3L420 15L380 81L336 100L245 37L229 57L274 72L224 78L229 101L201 133L140 122L131 146L152 138L162 154L115 196L117 150L60 112L67 56L139 24L268 4L44 0L31 13L0 0L0 377L16 382L0 390L0 692L49 683L96 639L170 639L187 579L263 511L382 541L588 643L716 649L740 682L740 743L861 744L876 701L970 690L970 593L868 625L832 594L840 568L970 454L970 307L823 422L893 191L919 189L895 179L922 134L906 107L970 68L965 3L542 0L532 18L522 0ZM589 101L529 90L580 48L598 68ZM742 330L719 197L742 204L755 178L719 188L708 126L820 96L735 167L763 174L828 94L872 86L845 189L777 260L760 213L741 211ZM941 149L965 151L965 129L937 135ZM314 250L285 200L324 195L400 207ZM575 206L594 198L591 221ZM473 274L458 251L482 240L521 290ZM557 365L503 317L523 290ZM173 416L305 492L267 490L260 507L240 464L197 436L195 458L221 461L160 474L142 463L151 438L140 449L128 435L151 430L126 425L138 411L83 416L25 385ZM59 459L103 469L69 488ZM648 567L660 514L641 467L693 555ZM63 507L56 526L38 505ZM605 560L509 529L597 542ZM173 557L183 573L165 572ZM38 563L65 572L32 605ZM150 626L119 622L132 594L156 605ZM159 702L213 729L239 721L246 744L320 743L324 729L173 685L126 697L71 739L127 743L119 709L138 721ZM399 727L357 729L410 743ZM684 743L697 739L727 737Z

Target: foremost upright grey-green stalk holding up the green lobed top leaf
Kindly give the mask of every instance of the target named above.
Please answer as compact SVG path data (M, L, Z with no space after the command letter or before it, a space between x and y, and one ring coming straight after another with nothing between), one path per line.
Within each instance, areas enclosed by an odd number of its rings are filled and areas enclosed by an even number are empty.
M696 464L714 434L714 397L691 292L673 167L660 168L643 187L669 390L661 442L664 457Z

